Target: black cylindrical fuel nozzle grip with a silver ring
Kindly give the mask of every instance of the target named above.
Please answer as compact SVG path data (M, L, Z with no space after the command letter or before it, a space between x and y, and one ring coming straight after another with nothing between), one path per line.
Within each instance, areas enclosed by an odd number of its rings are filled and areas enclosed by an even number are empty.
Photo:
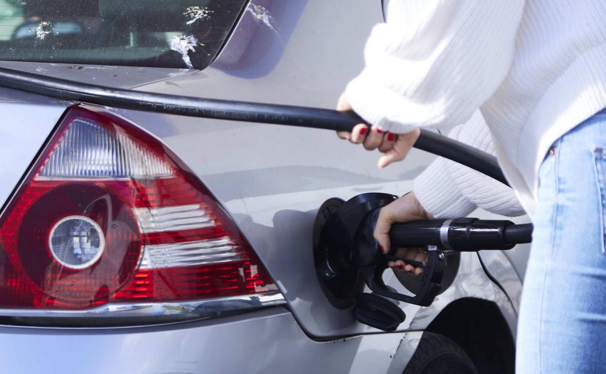
M436 245L445 250L507 250L531 242L532 225L478 218L427 219L391 225L391 250ZM391 254L391 253L390 253Z

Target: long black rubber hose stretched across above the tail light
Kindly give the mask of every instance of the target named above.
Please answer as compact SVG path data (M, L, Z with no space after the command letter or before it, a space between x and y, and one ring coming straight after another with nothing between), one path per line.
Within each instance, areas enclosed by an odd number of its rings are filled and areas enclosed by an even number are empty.
M123 90L21 72L5 67L0 67L0 86L67 101L200 118L261 122L335 131L351 131L354 125L364 122L353 112L342 113L336 110L293 105L192 98ZM421 130L421 136L415 143L415 148L451 159L509 185L496 158L469 145L427 130Z

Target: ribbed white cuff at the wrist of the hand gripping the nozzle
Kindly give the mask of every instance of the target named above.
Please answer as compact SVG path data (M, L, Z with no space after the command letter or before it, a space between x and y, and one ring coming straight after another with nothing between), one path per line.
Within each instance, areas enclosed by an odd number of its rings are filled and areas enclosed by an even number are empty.
M435 218L463 217L476 205L458 189L448 172L447 161L438 158L413 181L413 191L421 206Z

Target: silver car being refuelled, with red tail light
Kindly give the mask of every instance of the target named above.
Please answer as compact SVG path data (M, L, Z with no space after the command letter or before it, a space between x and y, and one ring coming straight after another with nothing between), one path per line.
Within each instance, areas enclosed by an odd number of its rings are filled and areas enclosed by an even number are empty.
M0 67L324 108L384 21L368 0L0 1ZM513 373L527 246L462 253L394 332L317 276L319 207L402 195L434 156L379 170L333 132L2 85L0 372Z

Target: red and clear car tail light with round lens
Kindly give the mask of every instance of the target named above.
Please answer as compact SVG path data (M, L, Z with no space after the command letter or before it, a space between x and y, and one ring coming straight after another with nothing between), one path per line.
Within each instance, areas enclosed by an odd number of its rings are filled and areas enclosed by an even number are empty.
M259 305L281 301L277 291L187 167L96 107L68 111L0 217L0 315L198 313L196 301Z

